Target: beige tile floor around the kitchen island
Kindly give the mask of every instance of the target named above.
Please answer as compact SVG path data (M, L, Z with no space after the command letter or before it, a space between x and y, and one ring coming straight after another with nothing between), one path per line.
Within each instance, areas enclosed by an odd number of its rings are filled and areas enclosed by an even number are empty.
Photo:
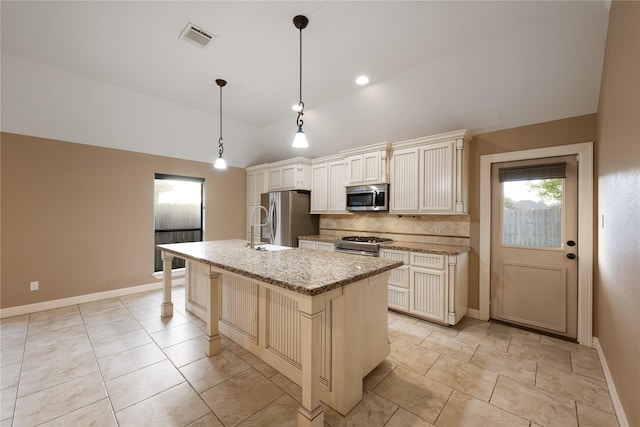
M1 320L0 427L295 426L300 388L204 323L161 319L146 292ZM465 318L389 312L391 354L338 426L617 426L593 349Z

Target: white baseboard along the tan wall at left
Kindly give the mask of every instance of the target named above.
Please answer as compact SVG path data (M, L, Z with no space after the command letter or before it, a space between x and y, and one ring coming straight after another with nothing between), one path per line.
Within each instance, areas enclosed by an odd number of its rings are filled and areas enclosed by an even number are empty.
M184 277L174 278L172 286L184 285ZM78 295L75 297L61 298L51 301L37 302L34 304L19 305L0 309L0 319L5 317L21 316L23 314L35 313L38 311L52 310L54 308L68 307L70 305L84 304L107 298L117 298L124 295L137 294L140 292L155 291L162 289L162 282L150 283L147 285L131 286L128 288L113 289L111 291L96 292L93 294Z

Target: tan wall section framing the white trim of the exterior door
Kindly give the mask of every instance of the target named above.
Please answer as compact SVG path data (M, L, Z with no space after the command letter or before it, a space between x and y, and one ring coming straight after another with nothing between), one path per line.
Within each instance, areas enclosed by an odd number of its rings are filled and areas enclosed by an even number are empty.
M596 144L596 114L538 123L513 129L479 134L469 144L469 214L471 216L471 254L469 258L469 307L479 306L480 245L480 156L578 142ZM595 243L594 243L595 244Z

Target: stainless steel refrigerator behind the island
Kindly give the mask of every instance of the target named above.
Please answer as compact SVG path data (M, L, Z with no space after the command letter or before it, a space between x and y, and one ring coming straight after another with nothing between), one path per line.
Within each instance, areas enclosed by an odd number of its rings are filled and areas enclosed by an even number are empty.
M260 196L267 208L267 225L260 240L280 246L298 246L298 236L318 234L318 215L311 215L311 193L304 190L272 191ZM264 220L262 220L264 221Z

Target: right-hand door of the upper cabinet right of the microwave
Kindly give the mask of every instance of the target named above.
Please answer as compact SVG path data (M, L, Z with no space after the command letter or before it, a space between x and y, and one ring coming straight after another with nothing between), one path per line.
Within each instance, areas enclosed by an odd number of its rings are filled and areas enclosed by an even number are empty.
M455 141L420 148L420 211L453 212Z

